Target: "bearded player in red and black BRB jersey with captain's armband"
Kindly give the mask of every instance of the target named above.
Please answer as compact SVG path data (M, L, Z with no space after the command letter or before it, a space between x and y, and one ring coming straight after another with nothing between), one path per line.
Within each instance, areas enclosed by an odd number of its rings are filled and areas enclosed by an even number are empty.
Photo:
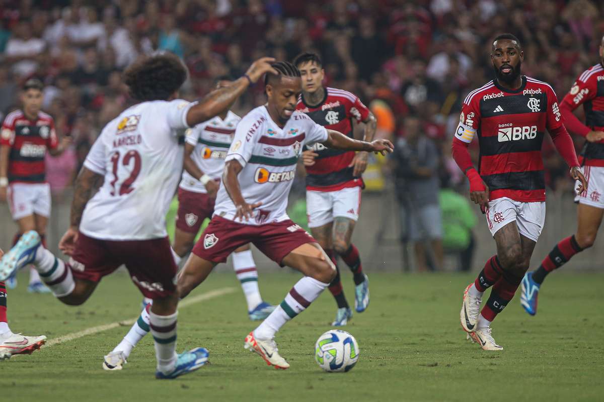
M570 174L586 187L573 140L562 125L553 89L520 74L524 52L512 34L495 38L491 60L496 79L467 95L453 139L455 162L470 180L470 198L486 208L497 254L484 265L463 295L461 326L484 350L502 350L490 323L512 300L528 269L545 221L545 180L541 159L544 132L571 166ZM480 143L478 171L467 146ZM479 311L483 292L493 286Z

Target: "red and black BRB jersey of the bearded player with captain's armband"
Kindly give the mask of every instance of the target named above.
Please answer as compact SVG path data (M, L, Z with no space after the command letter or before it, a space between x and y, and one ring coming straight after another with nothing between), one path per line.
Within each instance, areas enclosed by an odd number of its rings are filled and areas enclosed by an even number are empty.
M541 145L545 130L562 126L556 93L550 85L522 76L517 90L489 81L467 95L455 137L478 136L478 172L490 199L544 201L545 174Z

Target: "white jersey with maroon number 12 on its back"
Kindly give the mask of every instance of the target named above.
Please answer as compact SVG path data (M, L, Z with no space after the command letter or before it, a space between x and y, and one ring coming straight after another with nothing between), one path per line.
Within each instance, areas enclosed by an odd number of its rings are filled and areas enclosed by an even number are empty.
M191 103L143 102L107 124L84 166L104 176L80 223L86 236L102 240L149 240L167 236L165 214L181 177Z

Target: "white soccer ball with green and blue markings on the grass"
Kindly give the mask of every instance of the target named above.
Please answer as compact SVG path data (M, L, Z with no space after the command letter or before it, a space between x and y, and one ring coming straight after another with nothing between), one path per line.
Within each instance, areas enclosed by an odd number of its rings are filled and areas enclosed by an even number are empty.
M327 331L316 340L315 360L325 371L349 371L359 360L359 344L346 331Z

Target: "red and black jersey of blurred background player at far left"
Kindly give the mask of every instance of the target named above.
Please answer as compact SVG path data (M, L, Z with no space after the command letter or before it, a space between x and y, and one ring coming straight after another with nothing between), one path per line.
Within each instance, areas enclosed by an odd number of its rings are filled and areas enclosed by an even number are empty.
M46 180L46 151L59 146L53 118L42 111L36 120L28 119L21 110L8 113L2 123L0 145L10 146L10 183L43 183Z

